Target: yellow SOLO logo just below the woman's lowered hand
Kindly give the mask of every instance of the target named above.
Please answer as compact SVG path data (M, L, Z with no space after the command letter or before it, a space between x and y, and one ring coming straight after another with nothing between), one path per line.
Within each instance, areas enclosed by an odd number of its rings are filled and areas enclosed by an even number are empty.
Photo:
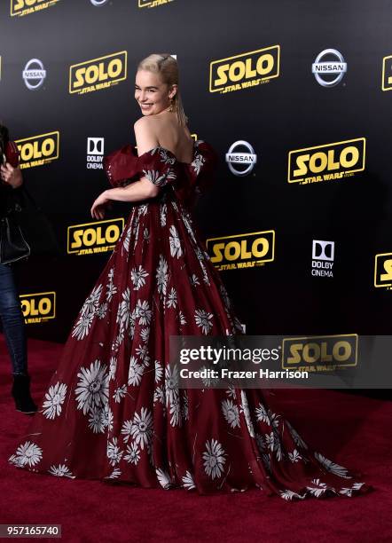
M114 248L123 228L122 217L68 226L67 253L79 256L106 253Z

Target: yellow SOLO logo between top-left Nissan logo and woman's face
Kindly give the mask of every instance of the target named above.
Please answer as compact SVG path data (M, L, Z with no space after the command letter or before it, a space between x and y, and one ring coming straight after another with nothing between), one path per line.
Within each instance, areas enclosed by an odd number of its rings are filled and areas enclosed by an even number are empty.
M125 79L127 51L120 51L69 67L69 92L85 94L100 91Z

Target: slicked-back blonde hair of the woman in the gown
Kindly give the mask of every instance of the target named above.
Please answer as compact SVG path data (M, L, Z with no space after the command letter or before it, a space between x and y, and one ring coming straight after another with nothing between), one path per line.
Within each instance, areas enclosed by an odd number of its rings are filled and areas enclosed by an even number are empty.
M170 85L178 85L178 64L174 57L169 53L149 55L141 60L137 65L137 70L147 70L153 74L159 74L163 83ZM179 90L179 85L171 102L173 111L176 112L178 123L184 126L188 122L188 117L185 115L183 101Z

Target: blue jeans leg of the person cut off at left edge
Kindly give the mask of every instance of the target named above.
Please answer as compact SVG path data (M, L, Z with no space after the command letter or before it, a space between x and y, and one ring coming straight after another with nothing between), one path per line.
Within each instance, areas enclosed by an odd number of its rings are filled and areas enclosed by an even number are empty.
M27 374L27 340L12 267L0 264L0 318L11 356L12 373Z

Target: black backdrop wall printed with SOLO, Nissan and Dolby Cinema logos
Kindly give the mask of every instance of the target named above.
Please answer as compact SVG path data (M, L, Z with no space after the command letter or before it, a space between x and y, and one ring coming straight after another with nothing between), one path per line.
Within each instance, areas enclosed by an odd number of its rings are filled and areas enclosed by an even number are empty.
M247 334L390 334L391 17L383 0L2 1L0 119L59 243L16 266L28 334L65 341L121 235L129 204L90 206L104 155L136 143L152 52L176 57L192 136L220 155L196 215Z

